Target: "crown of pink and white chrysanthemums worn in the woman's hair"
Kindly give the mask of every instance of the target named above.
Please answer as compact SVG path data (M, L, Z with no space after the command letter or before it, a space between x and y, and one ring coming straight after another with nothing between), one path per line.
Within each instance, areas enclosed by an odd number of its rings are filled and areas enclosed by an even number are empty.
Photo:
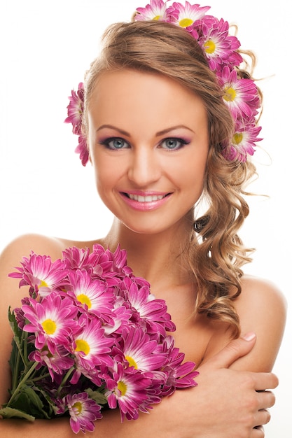
M255 82L241 77L239 65L244 62L238 49L240 43L236 36L229 34L229 24L222 18L206 15L210 6L185 6L174 2L167 7L169 0L150 0L145 8L137 8L134 21L158 20L176 24L186 29L200 44L206 56L209 68L216 73L218 83L223 90L223 101L228 106L235 122L235 132L228 150L222 155L226 160L245 162L247 155L253 155L261 127L257 126L260 97ZM88 162L88 145L82 132L84 109L84 87L79 83L78 90L72 90L67 106L68 117L65 122L73 125L73 133L78 135L79 153L83 166Z

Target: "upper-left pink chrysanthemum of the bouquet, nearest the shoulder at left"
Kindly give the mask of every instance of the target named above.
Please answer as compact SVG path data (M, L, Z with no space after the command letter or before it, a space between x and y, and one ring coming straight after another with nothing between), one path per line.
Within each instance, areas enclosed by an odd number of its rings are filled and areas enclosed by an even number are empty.
M22 267L17 268L19 272L13 272L9 276L21 278L20 287L29 285L38 291L41 297L59 288L67 274L61 260L52 262L46 255L32 253L29 257L22 257L21 264Z

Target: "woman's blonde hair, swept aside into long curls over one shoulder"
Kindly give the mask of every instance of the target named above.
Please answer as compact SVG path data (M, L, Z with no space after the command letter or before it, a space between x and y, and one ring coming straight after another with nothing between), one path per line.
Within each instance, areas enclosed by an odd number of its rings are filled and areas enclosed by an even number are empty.
M195 38L174 24L159 21L116 23L106 30L103 43L101 55L85 74L85 135L92 92L104 71L155 72L176 80L204 102L209 155L202 198L207 201L207 211L202 217L193 218L188 248L184 248L183 253L198 286L194 312L228 323L236 337L240 329L233 301L242 289L241 267L251 260L252 252L250 248L244 248L237 233L249 214L245 188L256 169L249 159L246 162L228 161L222 155L223 149L228 150L234 122L223 102L216 74L209 69ZM249 55L253 63L252 53ZM251 69L248 67L246 62L243 69L238 69L238 75L250 78L252 65Z

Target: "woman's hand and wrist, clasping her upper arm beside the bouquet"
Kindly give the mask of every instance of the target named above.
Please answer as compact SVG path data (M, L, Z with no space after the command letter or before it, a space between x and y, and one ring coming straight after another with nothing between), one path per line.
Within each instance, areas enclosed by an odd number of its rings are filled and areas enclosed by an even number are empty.
M263 438L275 401L266 389L277 387L277 377L229 368L255 343L254 334L231 341L200 366L198 386L176 390L153 409L145 430L165 438Z

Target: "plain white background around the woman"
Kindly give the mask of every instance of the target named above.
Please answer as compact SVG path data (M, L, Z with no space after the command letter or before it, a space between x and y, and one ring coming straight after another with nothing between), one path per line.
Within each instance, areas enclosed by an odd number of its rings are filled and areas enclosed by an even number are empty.
M138 1L138 0L137 0ZM95 239L111 223L95 192L92 169L74 154L77 137L67 96L99 50L108 24L130 20L136 0L1 0L0 249L18 234L39 232ZM213 4L212 4L213 3ZM288 0L213 0L211 13L239 26L242 47L258 57L265 78L265 140L255 160L260 178L242 236L255 246L246 271L270 278L291 302L291 46ZM202 3L202 6L206 6ZM76 137L76 138L75 138ZM274 371L280 378L267 438L289 438L292 389L291 322ZM267 339L267 342L269 340Z

